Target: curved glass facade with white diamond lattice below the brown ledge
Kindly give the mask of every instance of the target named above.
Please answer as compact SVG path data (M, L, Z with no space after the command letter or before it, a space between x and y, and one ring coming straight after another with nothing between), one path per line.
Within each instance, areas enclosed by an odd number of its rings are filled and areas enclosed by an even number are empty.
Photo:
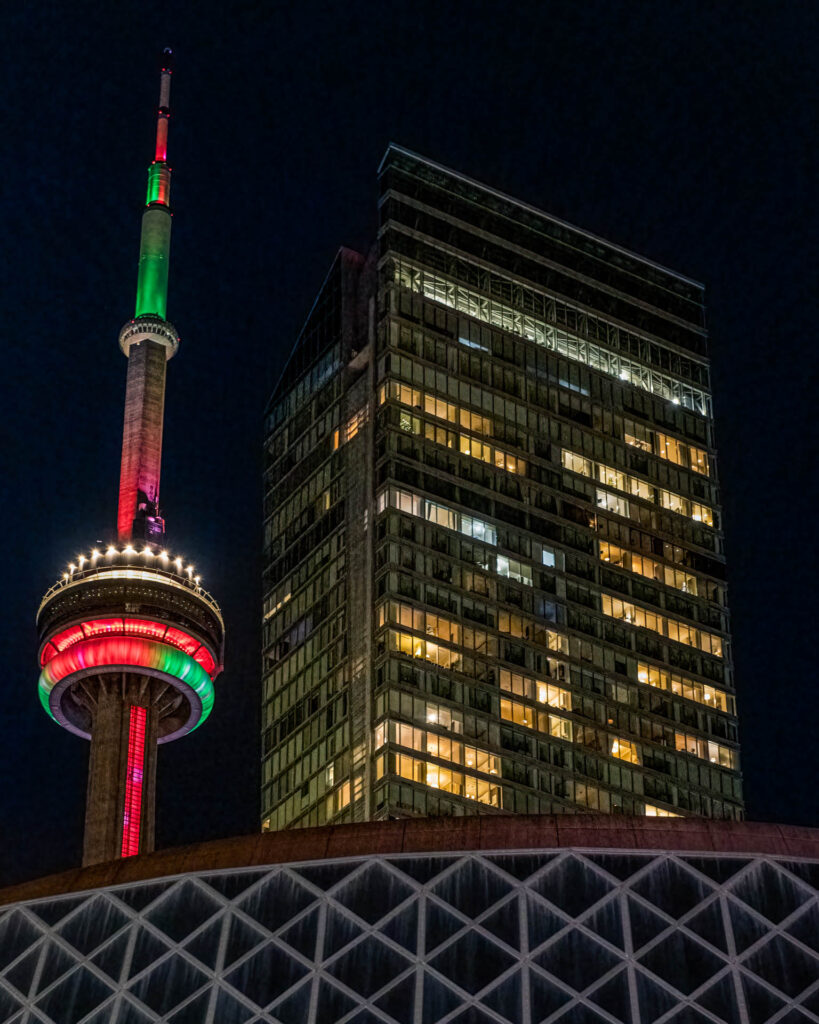
M13 1024L819 1022L819 863L627 852L239 868L0 911Z

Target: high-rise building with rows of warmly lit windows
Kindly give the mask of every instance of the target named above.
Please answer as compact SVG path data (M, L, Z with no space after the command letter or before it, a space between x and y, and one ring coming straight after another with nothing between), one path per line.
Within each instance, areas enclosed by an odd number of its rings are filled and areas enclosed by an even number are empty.
M379 178L267 410L263 826L741 818L702 286Z

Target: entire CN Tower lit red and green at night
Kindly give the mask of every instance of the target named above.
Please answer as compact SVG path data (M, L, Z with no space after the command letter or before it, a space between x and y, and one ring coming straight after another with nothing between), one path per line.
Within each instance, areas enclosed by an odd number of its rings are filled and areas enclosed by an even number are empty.
M40 700L90 739L83 864L154 849L157 745L205 721L222 668L219 606L167 549L159 504L166 366L179 347L166 318L171 57L165 50L136 309L120 332L128 373L118 543L77 556L37 612Z

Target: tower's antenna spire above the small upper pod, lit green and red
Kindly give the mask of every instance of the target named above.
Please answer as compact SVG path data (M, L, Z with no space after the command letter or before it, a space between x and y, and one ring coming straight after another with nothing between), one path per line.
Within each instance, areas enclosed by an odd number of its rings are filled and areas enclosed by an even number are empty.
M160 105L157 114L157 144L147 172L147 196L139 243L136 283L136 316L166 318L168 263L171 252L171 169L168 166L168 122L171 100L171 51L163 54L160 75Z

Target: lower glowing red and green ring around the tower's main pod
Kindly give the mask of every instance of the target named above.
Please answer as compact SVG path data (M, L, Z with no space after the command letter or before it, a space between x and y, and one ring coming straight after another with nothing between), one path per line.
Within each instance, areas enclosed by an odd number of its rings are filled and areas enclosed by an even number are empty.
M83 640L66 650L43 667L38 691L40 702L51 718L51 691L61 680L88 669L144 669L164 676L172 676L192 690L202 705L198 729L213 709L213 680L199 662L183 650L167 643L143 637L103 636ZM192 729L190 731L192 731Z

